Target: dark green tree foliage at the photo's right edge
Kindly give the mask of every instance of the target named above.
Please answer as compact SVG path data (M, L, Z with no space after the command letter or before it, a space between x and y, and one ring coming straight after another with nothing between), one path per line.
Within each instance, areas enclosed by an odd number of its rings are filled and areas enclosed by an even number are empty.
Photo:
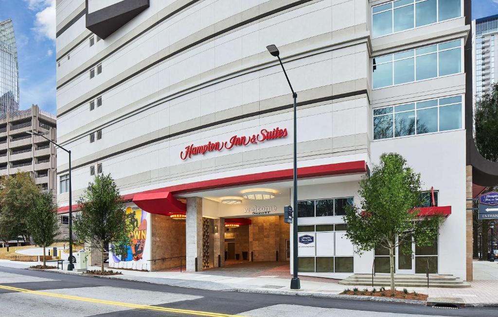
M498 162L498 83L493 84L491 93L476 101L474 122L479 152L484 158Z

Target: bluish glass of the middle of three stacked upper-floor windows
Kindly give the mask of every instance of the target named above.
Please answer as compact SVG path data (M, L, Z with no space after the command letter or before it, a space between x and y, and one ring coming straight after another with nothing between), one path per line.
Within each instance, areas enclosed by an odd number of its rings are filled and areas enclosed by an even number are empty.
M373 88L462 72L462 41L439 43L373 58Z

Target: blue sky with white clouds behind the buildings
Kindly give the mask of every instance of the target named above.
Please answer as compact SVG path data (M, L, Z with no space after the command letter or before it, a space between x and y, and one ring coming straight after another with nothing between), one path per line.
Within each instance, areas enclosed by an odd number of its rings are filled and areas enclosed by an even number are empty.
M472 1L473 19L493 14L498 0ZM7 18L17 42L20 108L35 103L55 114L55 0L0 0L0 20Z

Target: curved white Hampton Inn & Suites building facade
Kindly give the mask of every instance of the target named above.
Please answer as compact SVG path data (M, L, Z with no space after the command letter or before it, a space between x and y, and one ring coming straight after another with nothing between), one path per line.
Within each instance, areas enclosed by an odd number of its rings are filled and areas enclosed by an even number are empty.
M74 200L110 173L138 211L134 245L111 266L291 258L292 95L275 44L298 94L300 274L388 270L384 250L355 252L342 215L369 166L396 152L434 188L424 207L447 216L397 273L429 261L469 278L463 0L103 2L57 7L57 139ZM67 157L57 163L65 177Z

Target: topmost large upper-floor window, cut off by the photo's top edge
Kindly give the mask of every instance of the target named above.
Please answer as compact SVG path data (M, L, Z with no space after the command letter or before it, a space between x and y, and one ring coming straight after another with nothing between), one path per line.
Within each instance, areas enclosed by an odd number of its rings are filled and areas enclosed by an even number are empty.
M406 31L461 16L461 0L396 0L372 7L372 36Z

